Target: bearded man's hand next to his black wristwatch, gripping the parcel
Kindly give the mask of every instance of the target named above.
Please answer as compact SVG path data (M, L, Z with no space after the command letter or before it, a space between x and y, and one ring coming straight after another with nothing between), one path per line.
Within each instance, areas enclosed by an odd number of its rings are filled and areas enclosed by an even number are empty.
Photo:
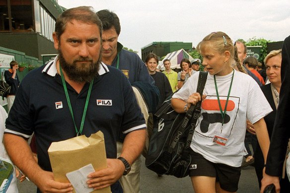
M103 189L111 186L122 177L125 166L121 160L107 159L107 164L107 168L88 175L88 178L90 178L87 181L89 188L94 188L94 190Z

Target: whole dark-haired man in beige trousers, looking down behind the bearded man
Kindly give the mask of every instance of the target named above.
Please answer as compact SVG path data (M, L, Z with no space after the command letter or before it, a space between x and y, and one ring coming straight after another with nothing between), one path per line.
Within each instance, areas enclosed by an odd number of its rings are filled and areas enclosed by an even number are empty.
M129 79L130 83L146 82L148 87L154 87L154 80L149 75L144 62L134 53L123 49L123 45L118 42L121 31L120 20L116 13L107 9L100 10L96 13L103 24L102 32L102 62L120 69ZM157 88L148 88L157 90ZM154 93L154 92L152 92ZM158 98L159 93L153 94L152 98ZM157 103L157 102L156 102ZM150 105L154 112L156 104ZM122 150L124 135L120 133L117 141L118 155ZM141 157L139 157L132 165L129 175L120 179L121 185L125 193L140 193L140 170Z

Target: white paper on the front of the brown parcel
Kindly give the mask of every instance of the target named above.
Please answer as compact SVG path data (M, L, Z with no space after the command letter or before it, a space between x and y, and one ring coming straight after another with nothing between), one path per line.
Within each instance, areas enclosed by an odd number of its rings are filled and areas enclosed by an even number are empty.
M78 170L66 174L76 193L90 193L94 191L93 188L88 188L87 176L94 172L92 164L86 165Z

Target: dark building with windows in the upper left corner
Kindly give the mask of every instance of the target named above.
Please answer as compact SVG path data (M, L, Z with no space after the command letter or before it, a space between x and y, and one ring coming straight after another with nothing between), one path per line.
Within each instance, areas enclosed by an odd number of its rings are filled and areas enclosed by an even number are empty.
M57 0L0 0L0 46L39 60L56 54L52 33L62 12Z

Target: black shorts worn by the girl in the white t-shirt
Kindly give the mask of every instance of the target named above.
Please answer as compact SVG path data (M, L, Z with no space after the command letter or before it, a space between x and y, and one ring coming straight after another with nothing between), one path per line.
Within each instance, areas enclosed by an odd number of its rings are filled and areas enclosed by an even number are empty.
M189 176L215 177L220 188L228 192L236 192L241 175L241 167L210 162L201 154L191 151Z

